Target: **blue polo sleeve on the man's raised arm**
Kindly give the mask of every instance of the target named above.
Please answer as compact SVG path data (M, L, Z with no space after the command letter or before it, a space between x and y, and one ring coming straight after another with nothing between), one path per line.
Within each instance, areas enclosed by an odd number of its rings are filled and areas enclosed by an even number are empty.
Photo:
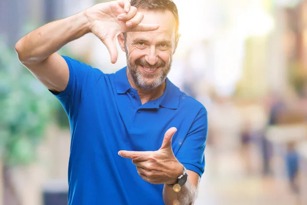
M62 104L70 118L73 117L79 106L91 90L96 86L103 73L96 68L81 63L68 56L62 56L69 68L68 85L62 92L53 92Z

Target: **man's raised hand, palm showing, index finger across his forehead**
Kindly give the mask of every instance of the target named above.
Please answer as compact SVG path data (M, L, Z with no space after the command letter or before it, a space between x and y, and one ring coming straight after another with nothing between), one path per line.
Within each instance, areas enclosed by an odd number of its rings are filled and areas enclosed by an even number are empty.
M115 45L116 37L129 31L153 31L159 25L141 24L143 14L136 7L130 6L128 0L118 0L97 4L84 10L90 23L90 31L94 33L107 47L111 62L116 63L118 51Z

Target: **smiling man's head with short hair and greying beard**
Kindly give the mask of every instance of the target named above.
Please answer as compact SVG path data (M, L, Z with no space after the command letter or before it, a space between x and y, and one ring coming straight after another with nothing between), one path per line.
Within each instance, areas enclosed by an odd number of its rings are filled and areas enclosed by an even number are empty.
M160 25L156 31L128 32L118 37L134 83L151 90L161 85L170 71L179 39L178 10L171 0L131 0L130 4L144 14L142 23Z

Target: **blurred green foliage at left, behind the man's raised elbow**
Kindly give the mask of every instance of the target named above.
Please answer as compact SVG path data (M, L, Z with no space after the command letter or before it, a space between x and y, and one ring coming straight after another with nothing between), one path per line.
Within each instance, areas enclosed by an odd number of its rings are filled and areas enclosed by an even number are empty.
M57 99L0 39L0 154L6 166L35 159L35 148L58 107Z

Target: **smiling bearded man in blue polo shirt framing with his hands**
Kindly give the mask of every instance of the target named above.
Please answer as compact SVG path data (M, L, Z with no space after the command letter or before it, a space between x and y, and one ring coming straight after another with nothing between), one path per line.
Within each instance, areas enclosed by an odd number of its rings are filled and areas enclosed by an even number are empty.
M97 4L21 38L19 60L61 102L71 126L69 204L192 204L204 172L207 111L166 77L178 44L171 0ZM113 74L56 52L94 33ZM132 159L132 160L131 160Z

